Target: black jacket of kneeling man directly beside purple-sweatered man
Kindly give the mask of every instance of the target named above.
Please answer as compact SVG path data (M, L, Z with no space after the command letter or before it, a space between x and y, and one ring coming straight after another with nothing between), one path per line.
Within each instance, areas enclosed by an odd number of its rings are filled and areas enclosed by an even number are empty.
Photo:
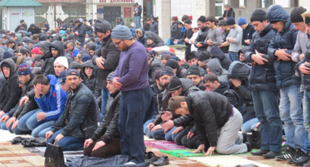
M96 141L103 136L102 141L109 143L112 138L119 138L118 131L118 114L120 109L122 93L120 91L111 94L107 101L106 113L104 119L100 123L91 137L91 140Z

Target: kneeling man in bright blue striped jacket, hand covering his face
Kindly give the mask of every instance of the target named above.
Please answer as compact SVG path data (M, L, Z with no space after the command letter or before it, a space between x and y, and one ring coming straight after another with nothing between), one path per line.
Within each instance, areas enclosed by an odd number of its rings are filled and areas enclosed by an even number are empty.
M34 100L39 109L23 115L17 127L21 131L31 131L33 137L45 137L55 121L62 114L67 99L67 93L61 89L58 80L53 75L36 76L33 79Z

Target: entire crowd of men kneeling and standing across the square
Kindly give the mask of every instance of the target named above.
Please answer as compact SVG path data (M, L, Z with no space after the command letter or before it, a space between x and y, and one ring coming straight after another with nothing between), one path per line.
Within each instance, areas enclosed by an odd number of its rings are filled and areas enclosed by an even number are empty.
M206 156L256 148L308 163L310 11L271 5L235 20L225 4L219 19L173 16L163 41L158 18L142 27L134 8L129 27L58 18L55 30L0 30L0 128L131 165L145 162L144 135ZM167 47L179 44L183 59Z

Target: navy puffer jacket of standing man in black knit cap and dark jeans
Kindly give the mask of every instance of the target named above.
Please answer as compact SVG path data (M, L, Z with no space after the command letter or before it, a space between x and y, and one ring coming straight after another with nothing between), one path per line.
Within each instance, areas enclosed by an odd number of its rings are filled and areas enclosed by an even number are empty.
M253 34L252 40L248 49L244 53L246 62L252 63L251 55L255 54L255 50L265 54L263 58L267 59L264 65L255 64L251 68L249 74L249 86L252 91L260 90L276 90L276 74L273 67L274 57L267 54L268 45L271 39L275 36L275 31L272 30L272 24L269 24L261 33L257 31Z

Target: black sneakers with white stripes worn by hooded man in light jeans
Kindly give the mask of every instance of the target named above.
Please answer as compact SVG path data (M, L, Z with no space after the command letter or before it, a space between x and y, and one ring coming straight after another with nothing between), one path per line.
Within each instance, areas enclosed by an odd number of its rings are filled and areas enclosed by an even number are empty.
M276 156L275 159L287 161L291 164L302 166L308 162L309 156L307 153L304 153L301 149L294 149L290 146L286 146L285 153Z

